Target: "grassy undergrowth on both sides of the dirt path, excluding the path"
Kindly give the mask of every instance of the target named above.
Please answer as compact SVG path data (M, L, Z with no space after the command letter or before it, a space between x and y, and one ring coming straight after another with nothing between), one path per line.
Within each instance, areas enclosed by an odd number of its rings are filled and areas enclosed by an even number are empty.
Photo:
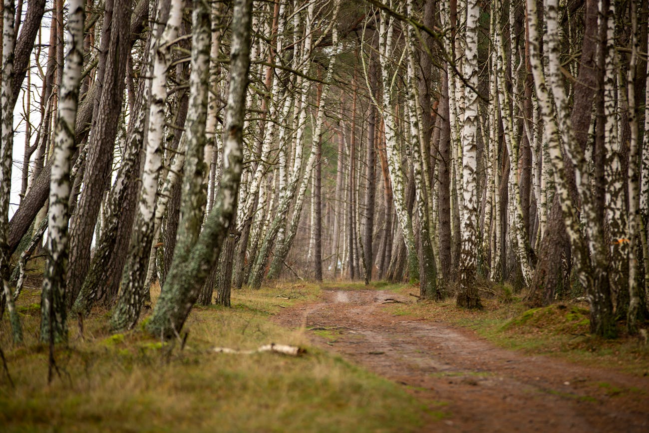
M432 413L406 388L310 344L305 329L271 322L282 309L316 303L323 290L418 293L417 287L374 283L281 283L236 290L232 308L195 307L184 333L161 342L141 331L111 334L106 310L83 324L70 322L67 345L55 351L59 374L47 384L48 347L38 342L39 290L26 289L18 310L25 344L10 342L8 320L0 344L8 372L0 379L4 431L195 430L204 431L410 431ZM530 355L552 355L588 365L649 374L649 346L638 336L604 340L588 334L583 303L527 309L506 287L485 292L483 310L458 309L449 299L384 306L393 316L445 322ZM152 290L153 301L159 287ZM624 327L620 323L620 329ZM185 334L186 332L186 334ZM184 340L184 342L183 342ZM214 347L256 349L269 343L298 345L300 357L276 353L229 355ZM143 423L143 419L146 422Z

